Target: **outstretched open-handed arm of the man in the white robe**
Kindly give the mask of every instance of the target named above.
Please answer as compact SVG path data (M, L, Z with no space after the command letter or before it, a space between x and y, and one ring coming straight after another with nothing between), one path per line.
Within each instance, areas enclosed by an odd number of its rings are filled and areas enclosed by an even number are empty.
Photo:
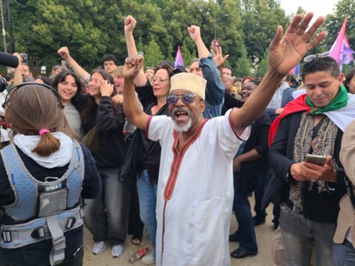
M302 15L296 15L285 35L282 35L281 26L277 28L276 35L270 43L269 66L262 82L241 109L232 113L233 125L239 134L264 112L282 78L296 66L307 51L312 50L327 35L323 31L310 41L324 21L323 17L319 17L306 31L312 17L312 12L308 12L304 20Z

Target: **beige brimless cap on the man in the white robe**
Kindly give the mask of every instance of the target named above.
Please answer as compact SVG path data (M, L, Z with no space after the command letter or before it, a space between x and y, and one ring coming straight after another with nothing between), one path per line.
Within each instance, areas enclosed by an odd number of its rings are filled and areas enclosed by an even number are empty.
M207 81L198 74L179 73L170 79L170 93L174 90L190 90L205 99Z

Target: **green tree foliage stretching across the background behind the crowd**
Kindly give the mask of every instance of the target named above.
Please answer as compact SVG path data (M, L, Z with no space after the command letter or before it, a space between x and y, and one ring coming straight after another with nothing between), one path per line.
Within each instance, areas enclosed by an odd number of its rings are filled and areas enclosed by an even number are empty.
M241 69L252 68L251 61L259 65L267 62L265 51L276 27L285 28L290 20L279 0L28 0L25 5L9 1L15 50L28 53L31 67L59 64L57 51L67 46L88 71L101 66L106 53L114 53L124 62L127 49L123 24L129 14L138 20L133 34L149 66L162 59L173 61L177 46L188 66L196 57L196 47L187 27L197 25L208 48L217 37L224 53L230 55L228 63L239 75ZM328 32L327 40L316 51L330 49L345 17L346 35L355 49L354 3L340 0L335 5L335 12L327 16L323 27ZM300 6L296 12L304 13L304 9ZM3 46L0 43L0 49ZM263 67L256 67L258 75Z

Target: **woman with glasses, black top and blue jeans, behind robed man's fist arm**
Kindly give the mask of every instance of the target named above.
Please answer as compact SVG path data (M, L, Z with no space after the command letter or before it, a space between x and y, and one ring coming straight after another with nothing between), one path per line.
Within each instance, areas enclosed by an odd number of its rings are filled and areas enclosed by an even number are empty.
M155 67L155 75L152 84L146 80L146 86L136 88L138 98L146 113L151 115L170 116L166 96L170 91L170 77L173 74L172 66L163 64ZM137 170L137 189L139 199L140 219L146 226L152 245L155 249L156 234L156 190L159 176L162 147L159 142L151 141L145 137L143 130L137 129L134 134L138 141L138 158L136 158L135 169ZM143 263L152 264L155 262L155 250L152 254L143 257Z

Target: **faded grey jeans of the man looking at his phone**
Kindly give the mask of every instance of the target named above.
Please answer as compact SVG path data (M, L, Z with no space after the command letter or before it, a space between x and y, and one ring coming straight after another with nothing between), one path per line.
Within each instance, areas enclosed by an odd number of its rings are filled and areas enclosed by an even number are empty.
M280 230L286 265L310 265L314 246L316 265L333 266L335 224L314 222L283 205L280 212Z

